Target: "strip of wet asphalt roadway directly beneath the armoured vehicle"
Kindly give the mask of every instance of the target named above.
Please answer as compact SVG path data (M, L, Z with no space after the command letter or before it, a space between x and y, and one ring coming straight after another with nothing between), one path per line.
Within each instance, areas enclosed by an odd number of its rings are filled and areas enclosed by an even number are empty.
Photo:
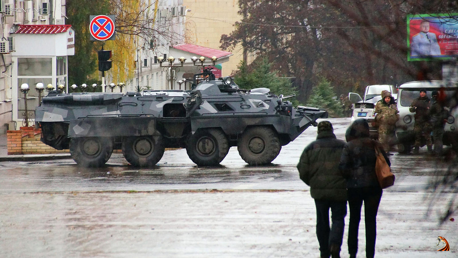
M331 119L336 136L344 139L349 118ZM199 168L187 157L185 149L166 151L154 168L133 168L121 153L113 153L104 168L80 168L72 159L41 162L0 163L0 193L68 191L154 191L186 189L307 189L298 180L296 164L304 147L315 140L310 127L296 140L283 146L268 166L250 166L232 147L218 167ZM425 150L422 150L425 151ZM448 164L438 164L423 155L391 156L397 184L390 191L417 191L431 177L441 175ZM403 183L408 181L408 183Z

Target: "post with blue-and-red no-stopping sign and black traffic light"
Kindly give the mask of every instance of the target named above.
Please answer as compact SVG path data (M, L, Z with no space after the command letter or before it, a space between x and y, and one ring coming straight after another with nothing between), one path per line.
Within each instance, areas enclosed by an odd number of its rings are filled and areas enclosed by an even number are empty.
M89 33L90 39L95 40L114 40L114 15L90 15L89 16ZM102 72L102 85L105 84L105 71L111 68L111 50L98 51L98 70ZM105 92L105 87L102 86L102 91Z

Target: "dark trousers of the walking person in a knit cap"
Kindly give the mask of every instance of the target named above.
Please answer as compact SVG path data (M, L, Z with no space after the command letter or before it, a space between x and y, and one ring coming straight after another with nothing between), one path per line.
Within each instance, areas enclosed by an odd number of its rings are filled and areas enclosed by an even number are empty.
M344 237L345 215L347 202L316 200L316 237L320 244L322 257L329 257L331 245L340 249ZM329 208L331 209L332 227L329 227Z

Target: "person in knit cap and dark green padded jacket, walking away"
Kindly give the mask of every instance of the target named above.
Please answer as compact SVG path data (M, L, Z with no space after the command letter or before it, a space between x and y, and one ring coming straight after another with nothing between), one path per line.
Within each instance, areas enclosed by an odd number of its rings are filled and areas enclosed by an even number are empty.
M347 215L347 190L345 178L338 165L345 146L333 133L328 121L318 123L316 140L305 147L297 169L300 179L310 185L310 194L316 206L316 237L321 257L340 257ZM332 227L329 227L329 209Z

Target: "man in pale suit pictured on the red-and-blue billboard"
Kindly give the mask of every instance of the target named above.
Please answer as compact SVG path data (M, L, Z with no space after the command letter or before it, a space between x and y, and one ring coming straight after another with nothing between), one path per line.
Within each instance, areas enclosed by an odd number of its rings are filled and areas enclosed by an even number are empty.
M410 56L440 56L441 49L437 43L436 34L429 32L430 23L426 20L420 23L420 32L412 37Z

